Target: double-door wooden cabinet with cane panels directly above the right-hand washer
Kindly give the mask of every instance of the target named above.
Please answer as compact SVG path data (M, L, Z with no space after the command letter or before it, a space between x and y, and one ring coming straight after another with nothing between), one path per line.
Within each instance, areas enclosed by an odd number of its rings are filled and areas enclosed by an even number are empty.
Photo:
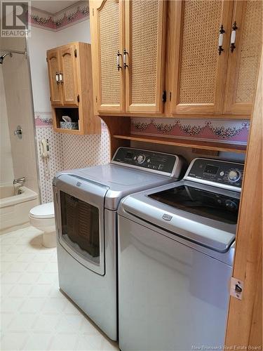
M169 1L169 11L170 114L248 118L262 46L262 1Z

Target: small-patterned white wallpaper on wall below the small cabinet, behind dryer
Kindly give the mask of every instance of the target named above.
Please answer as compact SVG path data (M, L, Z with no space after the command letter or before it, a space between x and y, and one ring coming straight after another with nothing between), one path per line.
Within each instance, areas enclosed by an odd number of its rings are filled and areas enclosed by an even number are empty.
M103 123L101 135L55 133L51 112L36 112L35 123L42 203L53 201L52 180L55 173L109 162L109 135ZM43 138L48 139L50 147L49 173L45 172L45 163L40 152Z

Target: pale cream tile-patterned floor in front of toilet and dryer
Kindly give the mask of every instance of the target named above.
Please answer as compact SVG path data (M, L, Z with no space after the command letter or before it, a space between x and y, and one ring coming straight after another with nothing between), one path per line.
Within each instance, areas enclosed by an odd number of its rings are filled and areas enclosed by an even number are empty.
M56 249L41 239L34 227L0 237L1 350L119 350L60 292Z

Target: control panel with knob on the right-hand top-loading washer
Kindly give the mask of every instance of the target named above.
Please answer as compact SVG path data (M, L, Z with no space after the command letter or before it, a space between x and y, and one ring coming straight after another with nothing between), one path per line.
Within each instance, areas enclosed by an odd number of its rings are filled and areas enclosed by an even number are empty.
M194 178L199 183L215 183L215 186L241 188L243 164L215 159L194 159L184 178Z

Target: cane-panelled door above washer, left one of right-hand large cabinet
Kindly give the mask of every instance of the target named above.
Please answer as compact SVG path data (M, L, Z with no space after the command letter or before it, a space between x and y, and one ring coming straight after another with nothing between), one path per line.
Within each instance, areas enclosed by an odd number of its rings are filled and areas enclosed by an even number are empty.
M170 6L170 112L222 114L233 2L170 1Z

